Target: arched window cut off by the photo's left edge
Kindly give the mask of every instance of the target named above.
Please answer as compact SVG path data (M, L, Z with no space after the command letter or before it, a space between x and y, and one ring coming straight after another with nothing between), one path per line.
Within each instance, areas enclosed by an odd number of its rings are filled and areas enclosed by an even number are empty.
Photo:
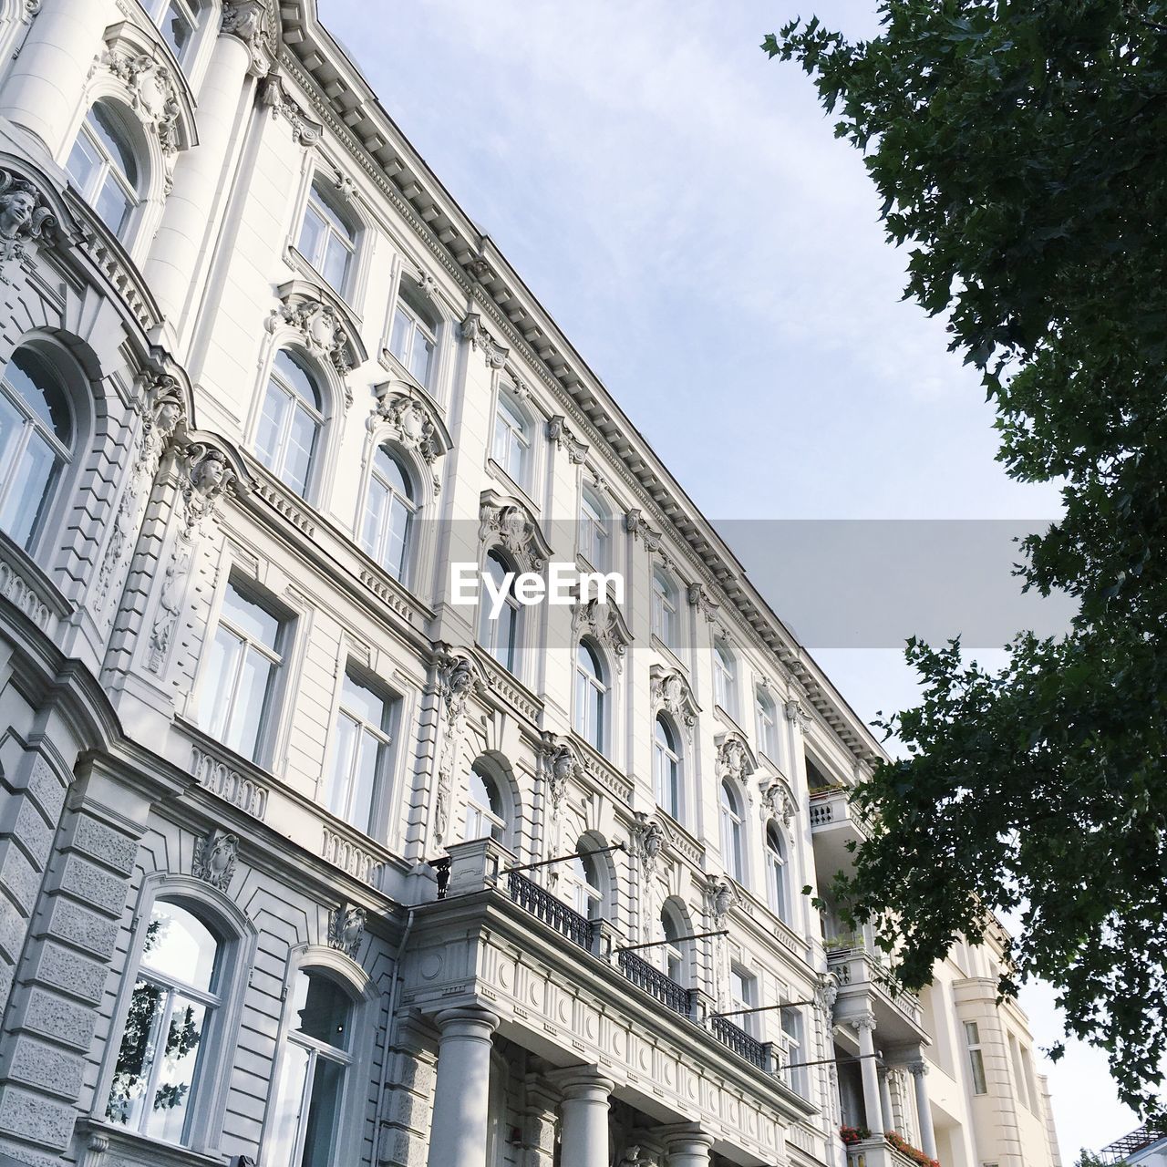
M18 349L0 382L0 530L26 551L41 532L74 425L64 389L32 349Z

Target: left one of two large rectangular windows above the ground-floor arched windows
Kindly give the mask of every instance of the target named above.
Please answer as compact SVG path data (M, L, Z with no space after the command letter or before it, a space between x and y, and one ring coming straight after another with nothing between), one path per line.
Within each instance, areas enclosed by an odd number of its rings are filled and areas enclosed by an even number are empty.
M258 762L274 721L275 691L288 622L228 582L203 678L203 728Z

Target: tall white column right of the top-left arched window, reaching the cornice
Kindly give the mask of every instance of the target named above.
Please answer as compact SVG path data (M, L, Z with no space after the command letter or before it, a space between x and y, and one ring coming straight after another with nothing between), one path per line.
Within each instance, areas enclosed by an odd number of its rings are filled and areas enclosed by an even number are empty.
M197 282L245 83L263 64L263 19L259 0L236 0L223 9L219 37L198 90L198 145L184 151L175 166L174 189L146 260L146 281L175 336Z

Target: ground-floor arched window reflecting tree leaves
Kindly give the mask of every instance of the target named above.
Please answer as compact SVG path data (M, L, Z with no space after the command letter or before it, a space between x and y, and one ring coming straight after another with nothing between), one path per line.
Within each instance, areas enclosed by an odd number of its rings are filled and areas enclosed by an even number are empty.
M222 1006L219 942L194 913L159 900L141 935L105 1117L165 1142L188 1144Z

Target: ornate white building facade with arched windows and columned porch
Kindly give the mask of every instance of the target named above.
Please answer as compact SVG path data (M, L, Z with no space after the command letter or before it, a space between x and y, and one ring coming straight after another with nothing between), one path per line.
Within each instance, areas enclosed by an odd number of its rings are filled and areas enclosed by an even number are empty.
M314 0L0 61L0 1163L1056 1167L992 945L802 894L878 746ZM623 602L452 602L553 561Z

